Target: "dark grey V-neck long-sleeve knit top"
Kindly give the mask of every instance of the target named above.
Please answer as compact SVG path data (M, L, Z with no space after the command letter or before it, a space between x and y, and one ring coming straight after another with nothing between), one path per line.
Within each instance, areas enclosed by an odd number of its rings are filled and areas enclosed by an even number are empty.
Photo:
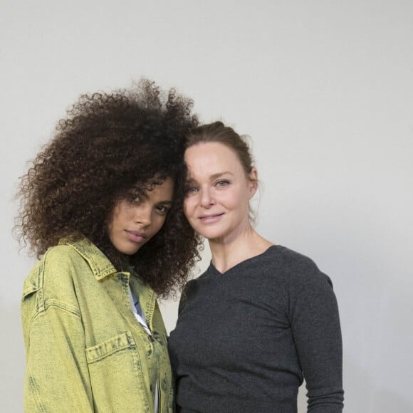
M303 377L309 413L343 410L330 278L283 246L190 281L169 355L181 413L296 413Z

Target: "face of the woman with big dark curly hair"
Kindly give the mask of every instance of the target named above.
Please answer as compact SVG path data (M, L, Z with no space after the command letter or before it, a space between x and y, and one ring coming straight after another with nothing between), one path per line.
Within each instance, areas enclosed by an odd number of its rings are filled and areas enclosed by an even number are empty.
M117 251L133 255L162 228L172 205L174 182L167 178L140 197L132 194L115 205L108 225Z

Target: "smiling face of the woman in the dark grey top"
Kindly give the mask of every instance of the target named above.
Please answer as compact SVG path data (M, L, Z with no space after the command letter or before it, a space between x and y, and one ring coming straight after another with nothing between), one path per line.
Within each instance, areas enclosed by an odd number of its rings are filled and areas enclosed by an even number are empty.
M189 224L210 241L231 241L249 228L249 200L256 192L256 169L249 177L234 150L204 142L185 152L189 169L184 202Z

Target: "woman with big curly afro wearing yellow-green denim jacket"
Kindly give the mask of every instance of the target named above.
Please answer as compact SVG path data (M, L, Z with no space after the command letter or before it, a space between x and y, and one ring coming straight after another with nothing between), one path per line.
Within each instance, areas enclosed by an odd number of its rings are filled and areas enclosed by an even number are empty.
M199 258L182 211L192 101L149 80L83 95L21 179L27 412L172 412L157 305Z

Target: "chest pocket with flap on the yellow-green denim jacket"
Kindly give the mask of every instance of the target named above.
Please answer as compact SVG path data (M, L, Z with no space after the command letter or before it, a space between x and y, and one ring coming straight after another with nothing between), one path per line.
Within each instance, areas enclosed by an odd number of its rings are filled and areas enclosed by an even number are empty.
M149 386L130 331L87 347L85 352L95 412L152 412Z

